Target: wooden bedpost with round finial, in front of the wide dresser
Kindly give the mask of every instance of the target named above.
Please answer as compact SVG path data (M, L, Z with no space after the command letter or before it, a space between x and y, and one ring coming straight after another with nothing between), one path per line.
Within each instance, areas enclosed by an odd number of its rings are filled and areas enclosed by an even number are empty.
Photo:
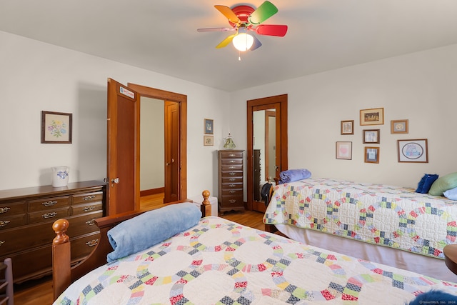
M68 228L69 221L66 219L59 219L52 225L52 229L56 232L56 237L52 241L54 300L71 284L71 266L69 264L71 260L70 238L66 235ZM57 252L59 253L58 256L56 255Z

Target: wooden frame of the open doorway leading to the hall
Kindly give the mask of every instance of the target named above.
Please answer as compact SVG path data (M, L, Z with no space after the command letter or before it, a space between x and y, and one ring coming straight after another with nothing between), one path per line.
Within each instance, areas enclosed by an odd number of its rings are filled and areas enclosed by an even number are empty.
M148 86L142 86L138 84L127 84L129 88L136 91L140 96L146 96L153 99L161 99L164 101L176 101L179 103L179 120L180 124L180 144L179 144L179 155L181 159L179 171L179 200L187 198L187 96L184 94L177 94L171 91L164 91L160 89L154 89ZM141 158L141 156L140 156Z

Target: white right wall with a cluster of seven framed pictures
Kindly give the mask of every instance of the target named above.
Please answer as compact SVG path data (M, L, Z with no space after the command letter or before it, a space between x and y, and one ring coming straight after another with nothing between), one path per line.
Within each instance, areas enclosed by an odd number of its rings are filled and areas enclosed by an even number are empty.
M312 60L312 59L303 59ZM288 167L314 177L415 187L424 173L457 171L457 45L258 86L231 95L231 129L246 149L246 101L288 94ZM384 108L383 125L360 126L359 110ZM355 121L341 135L341 121ZM390 121L409 120L408 134ZM364 163L363 129L381 129L379 164ZM428 163L398 163L398 139L428 139ZM336 159L336 141L352 141L352 160Z

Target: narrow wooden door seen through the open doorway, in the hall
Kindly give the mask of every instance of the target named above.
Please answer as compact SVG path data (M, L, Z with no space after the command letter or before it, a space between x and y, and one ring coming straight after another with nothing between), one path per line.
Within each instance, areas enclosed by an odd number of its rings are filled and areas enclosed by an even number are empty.
M165 194L164 203L179 200L179 103L165 101Z

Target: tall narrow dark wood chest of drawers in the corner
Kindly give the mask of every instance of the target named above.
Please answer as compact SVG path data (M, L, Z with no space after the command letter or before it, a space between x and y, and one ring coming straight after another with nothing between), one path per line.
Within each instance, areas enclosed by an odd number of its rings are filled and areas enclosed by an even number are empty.
M243 211L243 151L219 152L219 212Z

